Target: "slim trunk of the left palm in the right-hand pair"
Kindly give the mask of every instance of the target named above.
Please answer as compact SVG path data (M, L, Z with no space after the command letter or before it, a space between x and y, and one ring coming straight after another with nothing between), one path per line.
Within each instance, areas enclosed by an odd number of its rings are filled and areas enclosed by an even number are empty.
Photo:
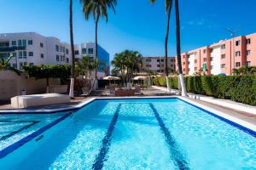
M167 26L166 26L166 42L165 42L165 60L166 60L166 85L167 92L171 92L170 84L169 84L169 72L168 72L168 37L169 37L169 27L170 27L170 18L171 18L172 5L168 9L167 14Z

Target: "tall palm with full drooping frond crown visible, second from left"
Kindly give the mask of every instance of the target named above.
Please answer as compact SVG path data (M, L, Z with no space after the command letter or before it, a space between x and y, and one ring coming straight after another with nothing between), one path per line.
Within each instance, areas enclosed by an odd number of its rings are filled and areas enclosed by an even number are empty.
M82 8L84 12L85 20L89 20L90 15L93 16L95 20L95 42L96 42L96 61L98 59L98 23L101 17L104 17L108 22L108 8L112 8L115 12L114 6L116 5L116 0L80 0L82 3ZM95 69L95 80L97 79L97 70ZM93 82L93 86L95 81Z

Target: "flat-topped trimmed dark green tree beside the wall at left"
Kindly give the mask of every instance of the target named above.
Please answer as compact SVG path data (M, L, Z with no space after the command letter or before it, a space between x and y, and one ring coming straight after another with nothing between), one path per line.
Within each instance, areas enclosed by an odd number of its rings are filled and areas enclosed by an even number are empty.
M61 78L61 82L66 82L70 77L70 65L25 65L24 71L29 77L46 79L46 92L49 93L49 78Z

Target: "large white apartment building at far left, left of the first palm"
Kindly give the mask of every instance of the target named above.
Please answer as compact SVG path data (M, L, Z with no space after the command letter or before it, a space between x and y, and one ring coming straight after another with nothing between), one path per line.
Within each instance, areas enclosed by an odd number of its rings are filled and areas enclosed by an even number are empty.
M0 58L14 55L10 64L22 70L23 65L68 65L70 45L56 37L36 32L0 34Z

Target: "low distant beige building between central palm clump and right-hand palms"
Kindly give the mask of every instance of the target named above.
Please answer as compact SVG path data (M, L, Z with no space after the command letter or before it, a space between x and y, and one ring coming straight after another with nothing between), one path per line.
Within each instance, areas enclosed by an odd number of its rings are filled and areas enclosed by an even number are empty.
M143 57L142 59L143 65L142 71L154 71L157 73L162 73L166 71L166 59L165 57ZM170 72L174 72L175 69L175 58L168 57L167 59L167 67Z

